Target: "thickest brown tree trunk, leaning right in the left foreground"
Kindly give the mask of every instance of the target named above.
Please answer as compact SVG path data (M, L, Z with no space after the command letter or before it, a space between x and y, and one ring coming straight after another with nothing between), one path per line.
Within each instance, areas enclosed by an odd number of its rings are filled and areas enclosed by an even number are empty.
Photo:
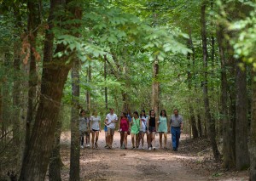
M50 152L54 144L55 127L60 110L62 91L67 80L68 71L73 64L73 59L67 62L67 59L72 55L52 58L54 35L50 32L53 27L51 23L55 18L54 12L57 12L61 5L61 0L50 1L49 31L46 33L44 44L40 102L30 137L29 148L22 161L20 180L44 180L45 178ZM73 3L71 14L76 19L80 19L82 16L82 10L77 1ZM70 25L69 28L74 26ZM58 44L56 53L65 49L64 45Z

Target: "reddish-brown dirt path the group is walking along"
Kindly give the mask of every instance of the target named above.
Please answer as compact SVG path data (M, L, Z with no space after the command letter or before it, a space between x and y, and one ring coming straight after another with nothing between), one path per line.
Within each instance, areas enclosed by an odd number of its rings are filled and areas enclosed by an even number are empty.
M179 161L183 157L183 145L180 150L121 150L119 133L115 133L113 150L104 149L105 134L100 133L99 149L85 148L80 156L81 180L208 180L189 167L183 167ZM183 137L184 139L184 137ZM61 136L61 158L65 166L63 180L68 180L70 135ZM168 135L168 148L171 147L171 135ZM128 136L128 148L131 148L131 136ZM159 148L159 136L156 137Z

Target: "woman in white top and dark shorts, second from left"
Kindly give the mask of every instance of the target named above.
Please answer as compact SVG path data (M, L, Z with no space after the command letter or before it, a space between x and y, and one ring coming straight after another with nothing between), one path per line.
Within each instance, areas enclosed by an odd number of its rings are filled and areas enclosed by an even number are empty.
M99 139L99 132L101 132L101 117L98 116L95 110L93 115L90 116L90 131L91 131L91 147L98 148L97 141ZM95 139L95 142L94 142Z

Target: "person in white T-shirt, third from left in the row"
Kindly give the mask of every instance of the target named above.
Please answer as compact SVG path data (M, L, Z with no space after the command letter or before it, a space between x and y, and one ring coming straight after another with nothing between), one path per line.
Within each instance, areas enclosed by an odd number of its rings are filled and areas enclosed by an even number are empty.
M113 144L113 134L115 129L115 123L118 122L118 117L113 113L113 109L109 109L110 113L106 116L105 124L108 128L108 138L107 138L107 149L112 149Z

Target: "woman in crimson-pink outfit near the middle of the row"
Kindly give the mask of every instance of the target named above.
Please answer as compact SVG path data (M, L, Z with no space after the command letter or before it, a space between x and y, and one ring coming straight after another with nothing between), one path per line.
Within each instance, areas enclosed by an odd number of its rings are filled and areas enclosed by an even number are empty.
M130 122L125 112L122 112L119 120L119 132L120 132L120 148L127 149L127 132L130 128ZM125 142L125 144L124 144Z

